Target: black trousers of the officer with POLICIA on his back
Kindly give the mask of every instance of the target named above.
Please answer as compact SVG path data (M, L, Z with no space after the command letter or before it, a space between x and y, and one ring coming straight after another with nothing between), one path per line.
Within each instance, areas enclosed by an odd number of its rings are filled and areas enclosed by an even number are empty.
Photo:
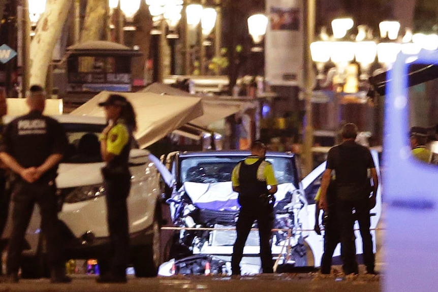
M50 268L56 273L64 269L59 245L56 186L53 181L28 183L17 180L13 187L12 232L9 240L7 272L17 274L24 247L24 235L30 217L38 204L41 214L41 230L47 242L47 255Z

